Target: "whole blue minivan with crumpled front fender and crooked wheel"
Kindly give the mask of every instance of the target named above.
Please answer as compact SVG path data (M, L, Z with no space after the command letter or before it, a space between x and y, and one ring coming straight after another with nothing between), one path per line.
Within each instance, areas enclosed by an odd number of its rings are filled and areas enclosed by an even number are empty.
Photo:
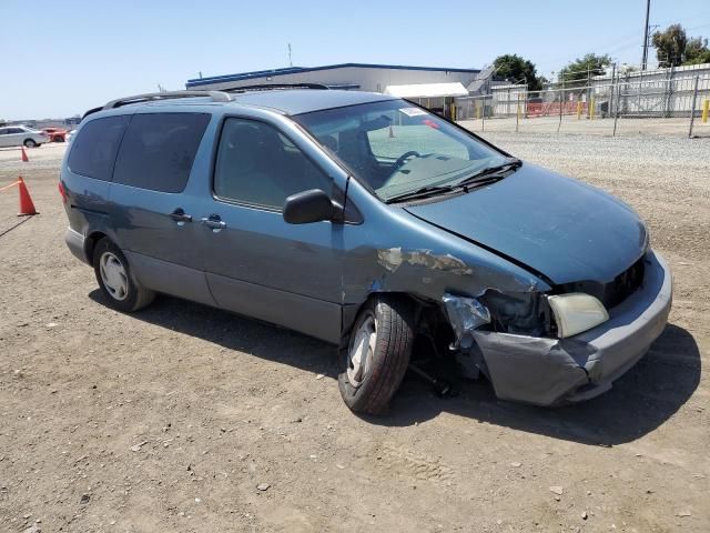
M336 344L362 413L413 356L434 383L455 359L500 399L587 400L663 331L670 271L610 194L398 98L241 91L87 113L65 241L114 309L162 292Z

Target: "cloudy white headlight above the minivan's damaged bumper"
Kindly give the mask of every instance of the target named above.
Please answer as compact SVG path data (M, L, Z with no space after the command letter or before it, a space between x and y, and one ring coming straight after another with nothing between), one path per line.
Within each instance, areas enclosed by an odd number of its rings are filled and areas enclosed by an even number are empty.
M547 296L555 322L557 336L565 339L609 320L609 313L595 296L582 292Z

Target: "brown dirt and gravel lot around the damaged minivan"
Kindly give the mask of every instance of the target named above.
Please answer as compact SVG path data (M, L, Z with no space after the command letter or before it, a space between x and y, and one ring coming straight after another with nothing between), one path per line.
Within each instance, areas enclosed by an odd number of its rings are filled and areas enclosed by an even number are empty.
M62 240L62 148L0 152L41 211L11 229L0 193L0 530L710 531L710 141L489 139L625 199L674 271L663 335L585 404L408 378L357 418L329 345L170 298L109 310Z

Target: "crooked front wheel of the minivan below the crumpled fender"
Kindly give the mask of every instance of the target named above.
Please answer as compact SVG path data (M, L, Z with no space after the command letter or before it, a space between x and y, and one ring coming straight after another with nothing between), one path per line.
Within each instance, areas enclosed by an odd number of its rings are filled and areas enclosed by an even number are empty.
M341 353L338 375L341 395L351 411L386 411L409 365L412 316L412 304L389 294L376 296L358 314L347 349Z

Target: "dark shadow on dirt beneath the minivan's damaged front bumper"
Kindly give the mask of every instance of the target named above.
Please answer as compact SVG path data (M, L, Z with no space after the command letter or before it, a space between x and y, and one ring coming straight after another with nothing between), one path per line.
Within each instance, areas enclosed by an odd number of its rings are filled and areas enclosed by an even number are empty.
M537 408L496 399L485 380L459 384L442 401L420 383L404 383L388 416L368 419L389 426L410 425L445 411L478 422L505 425L584 444L612 446L660 426L700 383L700 351L687 330L669 324L649 352L613 388L592 400L561 408Z

